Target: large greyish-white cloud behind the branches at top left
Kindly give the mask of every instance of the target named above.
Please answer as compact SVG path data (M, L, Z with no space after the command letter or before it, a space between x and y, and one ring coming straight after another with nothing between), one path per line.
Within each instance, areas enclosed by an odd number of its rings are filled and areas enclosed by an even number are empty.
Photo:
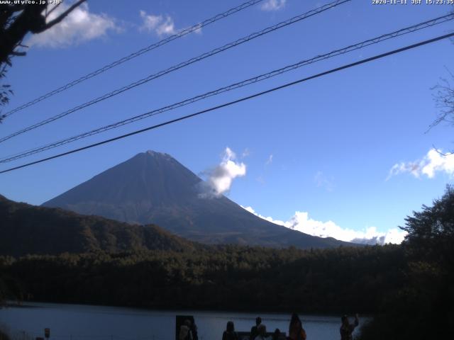
M55 11L50 13L47 21L52 21L67 10L70 4L62 3ZM31 35L26 45L41 47L67 47L82 42L101 38L109 30L120 30L116 26L114 18L106 14L90 13L87 3L75 8L62 22L43 33Z

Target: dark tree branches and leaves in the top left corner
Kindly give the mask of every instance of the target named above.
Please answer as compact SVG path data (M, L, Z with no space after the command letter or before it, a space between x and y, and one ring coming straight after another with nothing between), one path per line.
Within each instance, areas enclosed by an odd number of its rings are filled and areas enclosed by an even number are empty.
M6 67L11 67L11 58L24 56L26 52L21 47L23 38L29 33L37 34L48 30L57 23L60 23L74 8L80 6L86 0L78 0L59 16L48 20L48 17L60 6L48 4L48 1L33 1L35 4L24 2L24 4L0 4L0 81L6 76ZM41 2L41 3L40 3ZM0 106L9 102L9 96L13 94L9 85L0 85ZM0 115L0 122L4 115Z

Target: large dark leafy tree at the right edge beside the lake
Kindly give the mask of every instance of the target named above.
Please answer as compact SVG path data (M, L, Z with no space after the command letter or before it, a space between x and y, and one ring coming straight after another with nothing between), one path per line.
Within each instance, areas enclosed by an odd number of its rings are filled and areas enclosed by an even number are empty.
M454 334L454 189L406 218L404 286L362 339L442 339Z

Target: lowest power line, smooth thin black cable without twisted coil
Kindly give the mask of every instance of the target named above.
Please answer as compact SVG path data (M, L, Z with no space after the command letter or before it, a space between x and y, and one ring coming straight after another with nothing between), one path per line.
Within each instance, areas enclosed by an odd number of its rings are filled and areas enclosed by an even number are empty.
M75 152L79 152L79 151L82 151L82 150L85 150L85 149L90 149L92 147L97 147L99 145L104 145L104 144L107 144L109 142L114 142L115 140L121 140L123 138L130 137L132 135L138 135L139 133L142 133L142 132L145 132L145 131L155 130L155 129L161 128L162 126L165 126L165 125L170 125L172 123L177 123L177 122L179 122L181 120L194 118L197 115L201 115L201 114L204 114L204 113L209 113L211 111L216 111L219 108L225 108L227 106L232 106L233 104L236 104L236 103L240 103L240 102L243 102L243 101L248 101L249 99L252 99L252 98L263 96L265 94L270 94L270 93L272 93L274 91L278 91L280 89L284 89L286 87L293 86L293 85L302 83L304 81L309 81L311 79L316 79L316 78L319 78L319 77L323 77L323 76L326 76L327 74L335 73L335 72L341 71L343 69L348 69L350 67L355 67L355 66L358 66L360 64L365 64L367 62L372 62L373 60L381 59L381 58L387 57L389 55L395 55L397 53L404 52L406 50L411 50L411 49L416 48L416 47L420 47L420 46L423 46L423 45L428 45L428 44L430 44L432 42L436 42L438 40L443 40L443 39L450 38L450 37L453 37L453 36L454 36L454 33L449 33L449 34L441 35L441 36L438 36L436 38L432 38L432 39L429 39L429 40L424 40L424 41L421 41L421 42L417 42L416 44L413 44L413 45L409 45L409 46L406 46L406 47L401 47L401 48L399 48L397 50L392 50L390 52L385 52L385 53L382 53L381 55L375 55L374 57L370 57L370 58L367 58L365 60L360 60L358 62L353 62L351 64L345 64L345 65L343 65L341 67L336 67L335 69L330 69L328 71L321 72L319 74L315 74L315 75L313 75L311 77L306 77L306 78L303 78L303 79L299 79L297 81L292 81L290 83L274 87L272 89L268 89L268 90L265 90L265 91L258 92L257 94L252 94L250 96L245 96L243 98L236 99L235 101L229 101L228 103L223 103L223 104L218 105L218 106L207 108L205 110L198 111L198 112L192 113L190 115L184 115L184 116L179 117L179 118L175 118L175 119L172 119L172 120L167 120L164 123L160 123L160 124L157 124L157 125L152 125L152 126L150 126L148 128L144 128L144 129L141 129L141 130L135 130L134 132L129 132L129 133L126 133L125 135L120 135L120 136L117 136L117 137L114 137L114 138L110 138L109 140L103 140L101 142L97 142L97 143L94 143L92 145L87 145L85 147L79 147L78 149L72 149L70 151L63 152L61 154L56 154L56 155L51 156L51 157L47 157L47 158L44 158L44 159L39 159L38 161L35 161L35 162L30 162L30 163L23 164L23 165L20 165L20 166L14 166L13 168L0 171L0 174L4 174L4 173L9 172L9 171L21 169L21 168L24 168L26 166L31 166L33 164L46 162L46 161L49 161L50 159L63 157L63 156L66 156L67 154L74 154Z

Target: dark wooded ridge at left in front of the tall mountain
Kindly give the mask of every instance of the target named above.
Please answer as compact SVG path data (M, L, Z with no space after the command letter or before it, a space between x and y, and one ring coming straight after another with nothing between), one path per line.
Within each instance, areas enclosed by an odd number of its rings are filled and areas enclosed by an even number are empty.
M155 225L128 225L97 216L16 203L0 196L0 255L144 249L191 250L198 245Z

